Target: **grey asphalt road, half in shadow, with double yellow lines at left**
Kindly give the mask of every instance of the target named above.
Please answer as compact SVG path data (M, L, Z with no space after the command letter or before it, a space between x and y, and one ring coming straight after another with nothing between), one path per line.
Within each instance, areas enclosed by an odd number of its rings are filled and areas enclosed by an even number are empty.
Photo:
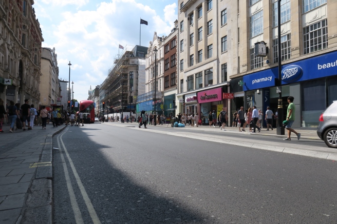
M55 223L337 223L332 160L105 124L53 147Z

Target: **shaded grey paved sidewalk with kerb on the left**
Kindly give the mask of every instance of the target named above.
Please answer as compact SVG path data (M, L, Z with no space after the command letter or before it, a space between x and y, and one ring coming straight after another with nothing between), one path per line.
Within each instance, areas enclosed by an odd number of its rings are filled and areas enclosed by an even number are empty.
M66 126L0 134L0 223L51 223L52 137ZM34 219L31 219L34 217Z

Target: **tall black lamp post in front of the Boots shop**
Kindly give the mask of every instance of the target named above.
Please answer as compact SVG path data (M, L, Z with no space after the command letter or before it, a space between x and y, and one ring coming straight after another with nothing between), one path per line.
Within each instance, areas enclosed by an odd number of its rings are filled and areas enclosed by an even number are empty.
M285 128L283 127L283 102L282 102L282 57L281 57L281 0L277 1L277 58L278 58L278 104L277 104L277 135L284 135Z

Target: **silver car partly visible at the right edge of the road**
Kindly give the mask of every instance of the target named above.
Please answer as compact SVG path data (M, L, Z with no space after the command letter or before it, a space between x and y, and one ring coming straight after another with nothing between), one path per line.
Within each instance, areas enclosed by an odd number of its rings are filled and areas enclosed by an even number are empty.
M337 100L321 114L317 135L328 147L337 149Z

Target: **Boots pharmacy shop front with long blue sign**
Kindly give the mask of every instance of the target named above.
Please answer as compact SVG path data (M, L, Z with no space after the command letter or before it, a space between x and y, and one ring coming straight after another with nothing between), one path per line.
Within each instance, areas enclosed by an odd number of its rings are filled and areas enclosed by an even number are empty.
M274 67L243 77L247 108L256 106L265 112L270 106L275 112L279 92L275 87L277 69ZM281 94L284 119L287 97L293 96L296 108L293 127L317 127L321 113L337 100L337 51L283 65Z

